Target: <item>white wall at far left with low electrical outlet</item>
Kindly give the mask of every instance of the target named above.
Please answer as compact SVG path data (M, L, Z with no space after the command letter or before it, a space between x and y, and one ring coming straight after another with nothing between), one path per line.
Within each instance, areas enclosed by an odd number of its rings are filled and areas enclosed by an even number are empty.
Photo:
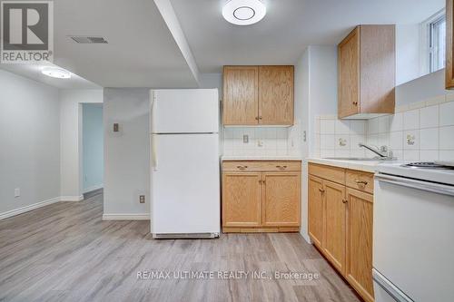
M57 89L0 70L0 218L58 200L59 122Z

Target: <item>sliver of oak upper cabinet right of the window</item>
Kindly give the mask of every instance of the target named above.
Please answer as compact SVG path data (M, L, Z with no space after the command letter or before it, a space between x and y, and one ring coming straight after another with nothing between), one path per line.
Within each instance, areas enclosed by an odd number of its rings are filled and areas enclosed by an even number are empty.
M446 0L446 89L454 89L454 1Z

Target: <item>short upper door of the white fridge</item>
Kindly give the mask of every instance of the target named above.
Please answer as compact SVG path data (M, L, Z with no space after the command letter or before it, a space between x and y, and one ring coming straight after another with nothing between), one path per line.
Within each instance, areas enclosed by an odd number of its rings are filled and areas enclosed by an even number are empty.
M152 133L219 132L217 89L152 90Z

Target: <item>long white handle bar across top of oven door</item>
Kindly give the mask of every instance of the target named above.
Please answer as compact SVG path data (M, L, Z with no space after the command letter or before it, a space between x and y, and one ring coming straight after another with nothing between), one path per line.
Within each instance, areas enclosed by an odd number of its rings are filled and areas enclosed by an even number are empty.
M411 189L426 190L429 192L438 193L442 195L454 196L454 187L444 185L441 183L422 180L412 180L381 173L375 174L375 180L395 184L398 186L408 187Z

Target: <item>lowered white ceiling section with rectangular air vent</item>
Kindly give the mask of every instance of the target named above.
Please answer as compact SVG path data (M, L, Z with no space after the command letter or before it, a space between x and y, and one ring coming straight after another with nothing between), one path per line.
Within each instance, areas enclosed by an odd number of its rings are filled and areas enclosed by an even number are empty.
M68 35L101 35L108 44ZM103 87L197 85L153 0L54 0L54 63Z

